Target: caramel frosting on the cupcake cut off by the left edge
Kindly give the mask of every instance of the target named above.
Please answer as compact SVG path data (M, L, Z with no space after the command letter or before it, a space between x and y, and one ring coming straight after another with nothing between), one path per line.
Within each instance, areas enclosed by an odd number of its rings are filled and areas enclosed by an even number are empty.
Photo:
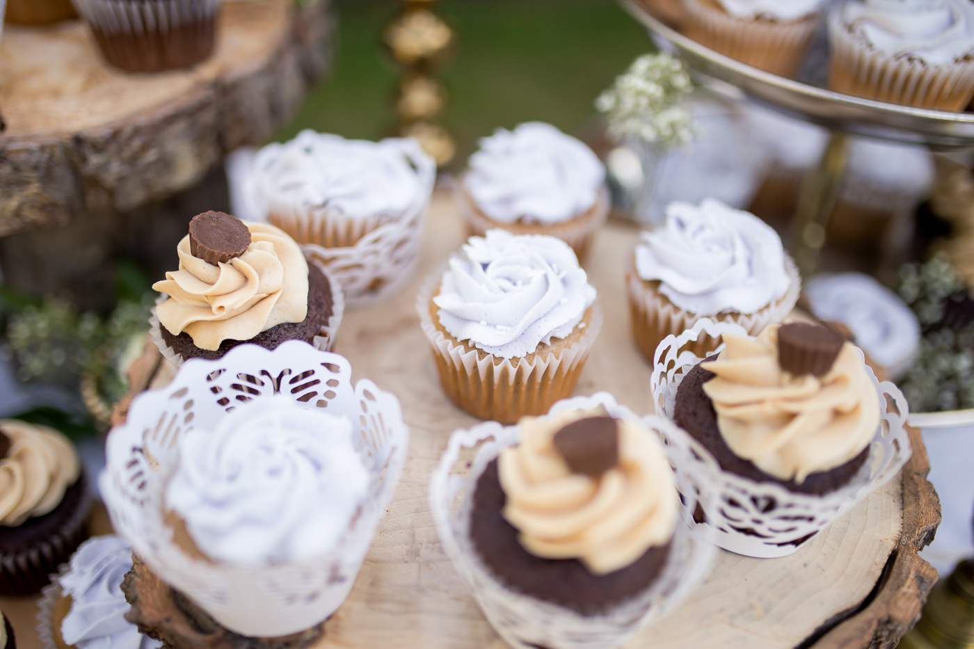
M46 426L5 419L0 432L10 441L0 460L0 525L13 527L54 510L81 465L71 442Z

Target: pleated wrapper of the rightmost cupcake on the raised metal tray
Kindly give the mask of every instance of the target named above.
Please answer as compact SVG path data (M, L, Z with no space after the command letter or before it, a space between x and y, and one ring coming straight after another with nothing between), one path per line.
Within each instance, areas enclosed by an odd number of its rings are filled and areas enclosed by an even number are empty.
M930 65L884 54L850 32L839 12L829 18L829 52L829 87L840 93L956 111L974 97L974 59Z

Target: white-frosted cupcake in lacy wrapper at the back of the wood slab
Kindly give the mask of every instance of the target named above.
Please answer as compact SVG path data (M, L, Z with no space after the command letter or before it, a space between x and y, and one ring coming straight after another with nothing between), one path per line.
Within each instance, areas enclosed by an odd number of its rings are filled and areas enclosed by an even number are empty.
M436 164L415 139L379 142L302 131L254 157L248 203L320 261L350 300L409 280Z

